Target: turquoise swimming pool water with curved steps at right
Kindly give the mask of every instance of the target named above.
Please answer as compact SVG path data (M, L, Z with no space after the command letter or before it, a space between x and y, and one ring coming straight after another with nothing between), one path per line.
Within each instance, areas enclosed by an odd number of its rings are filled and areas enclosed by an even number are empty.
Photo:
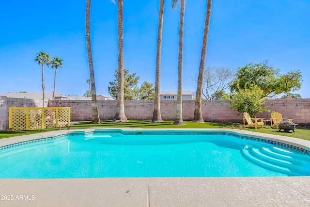
M221 131L77 131L0 147L0 178L310 175L310 152L281 145Z

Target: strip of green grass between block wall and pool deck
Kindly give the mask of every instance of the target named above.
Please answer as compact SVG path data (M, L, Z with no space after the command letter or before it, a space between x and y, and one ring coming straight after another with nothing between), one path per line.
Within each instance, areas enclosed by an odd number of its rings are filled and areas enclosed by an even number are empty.
M127 123L119 123L114 124L111 123L111 120L100 121L100 124L91 124L91 121L83 121L78 124L72 125L70 129L83 129L83 128L91 128L91 127L131 127L131 128L231 128L232 125L235 129L238 129L241 123L233 123L233 122L205 122L203 124L193 123L191 121L184 121L186 125L184 126L176 126L172 125L173 121L164 121L163 123L151 123L150 120L131 120ZM66 127L62 127L62 129L66 129ZM284 131L279 132L279 129L271 128L266 126L264 128L255 129L254 127L242 127L243 130L249 130L254 132L261 132L266 134L276 134L283 135L288 137L295 137L304 140L310 140L310 127L300 127L297 126L295 129L295 133L286 133ZM35 134L46 131L58 130L58 128L49 128L49 129L40 129L40 130L31 130L31 131L0 131L0 139L7 137L15 137L21 135Z

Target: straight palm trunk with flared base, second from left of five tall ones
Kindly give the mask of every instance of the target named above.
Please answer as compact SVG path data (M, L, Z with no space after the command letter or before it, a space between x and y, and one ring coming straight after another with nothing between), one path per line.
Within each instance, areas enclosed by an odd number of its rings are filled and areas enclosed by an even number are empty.
M118 87L113 123L127 122L124 107L123 0L118 0Z

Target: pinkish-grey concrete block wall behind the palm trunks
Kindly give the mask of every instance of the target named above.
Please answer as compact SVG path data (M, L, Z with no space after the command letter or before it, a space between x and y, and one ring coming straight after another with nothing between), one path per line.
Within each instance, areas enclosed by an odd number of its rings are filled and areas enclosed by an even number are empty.
M8 98L0 96L0 130L8 128L9 107L40 107L42 100ZM116 112L116 100L98 100L100 120L111 120ZM230 101L202 100L202 116L208 122L243 122L242 114L229 108ZM13 104L14 103L14 104ZM125 114L129 120L151 120L153 116L153 100L125 100ZM71 121L92 120L92 102L90 100L49 100L49 107L70 107ZM184 120L192 120L194 116L194 100L183 101ZM282 113L283 118L292 118L293 122L310 126L310 98L307 99L272 99L267 100L264 107L270 111ZM160 101L163 120L174 120L176 101ZM256 115L270 120L270 112Z

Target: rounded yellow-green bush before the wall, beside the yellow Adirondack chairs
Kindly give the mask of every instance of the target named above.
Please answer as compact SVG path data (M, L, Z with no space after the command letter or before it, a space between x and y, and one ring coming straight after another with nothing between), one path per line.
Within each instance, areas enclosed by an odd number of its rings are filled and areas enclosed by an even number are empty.
M266 101L263 96L263 90L256 85L250 85L246 89L238 89L236 93L231 96L230 108L238 111L239 113L248 112L253 117L255 114L263 111L262 106Z

